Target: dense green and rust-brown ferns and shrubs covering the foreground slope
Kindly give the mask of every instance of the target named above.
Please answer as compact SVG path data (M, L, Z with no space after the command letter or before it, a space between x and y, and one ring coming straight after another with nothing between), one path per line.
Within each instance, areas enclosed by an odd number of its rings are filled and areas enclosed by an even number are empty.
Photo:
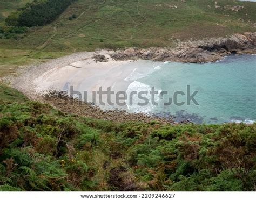
M5 91L1 191L255 190L256 124L115 124Z

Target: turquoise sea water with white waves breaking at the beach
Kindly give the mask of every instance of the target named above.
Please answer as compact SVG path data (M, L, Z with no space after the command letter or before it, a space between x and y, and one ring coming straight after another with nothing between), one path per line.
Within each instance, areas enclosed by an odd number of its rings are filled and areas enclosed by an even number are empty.
M125 80L131 82L127 94L133 90L150 91L151 87L169 92L163 99L156 98L158 106L133 104L130 112L174 115L177 121L189 119L195 123L253 123L256 120L256 55L232 55L204 64L137 61L129 65L138 67ZM187 85L191 87L191 94L198 90L195 99L199 105L193 102L183 106L163 105L176 91L186 94ZM186 102L186 96L179 95L177 100Z

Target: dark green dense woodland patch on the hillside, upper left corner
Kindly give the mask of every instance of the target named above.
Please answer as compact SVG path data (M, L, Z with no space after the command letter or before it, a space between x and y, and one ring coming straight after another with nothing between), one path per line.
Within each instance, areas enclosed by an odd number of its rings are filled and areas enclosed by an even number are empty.
M9 26L43 26L55 20L75 0L35 0L5 19Z

